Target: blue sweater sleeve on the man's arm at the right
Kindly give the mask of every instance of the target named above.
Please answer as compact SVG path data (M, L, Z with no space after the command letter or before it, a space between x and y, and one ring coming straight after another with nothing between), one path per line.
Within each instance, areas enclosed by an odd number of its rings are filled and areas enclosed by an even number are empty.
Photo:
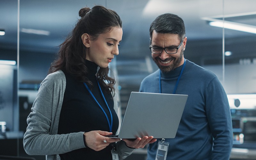
M228 98L220 81L215 77L207 86L206 114L213 140L213 160L227 160L232 148L233 132Z

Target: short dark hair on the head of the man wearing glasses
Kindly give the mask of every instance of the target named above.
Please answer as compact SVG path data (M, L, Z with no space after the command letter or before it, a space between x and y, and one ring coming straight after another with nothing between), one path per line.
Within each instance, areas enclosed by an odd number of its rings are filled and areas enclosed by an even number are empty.
M156 17L149 28L150 38L152 38L153 30L157 33L178 34L180 40L185 37L184 21L179 16L171 13L165 13Z

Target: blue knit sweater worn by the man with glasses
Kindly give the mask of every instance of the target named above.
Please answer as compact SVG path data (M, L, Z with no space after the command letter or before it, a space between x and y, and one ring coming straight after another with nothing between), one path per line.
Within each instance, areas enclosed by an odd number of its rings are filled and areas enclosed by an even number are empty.
M161 73L162 93L173 93L181 68ZM159 72L141 82L140 92L159 93ZM227 95L217 76L187 60L175 94L188 94L188 100L176 137L165 140L170 143L167 160L228 160L232 121ZM149 145L148 160L155 160L156 149L157 142Z

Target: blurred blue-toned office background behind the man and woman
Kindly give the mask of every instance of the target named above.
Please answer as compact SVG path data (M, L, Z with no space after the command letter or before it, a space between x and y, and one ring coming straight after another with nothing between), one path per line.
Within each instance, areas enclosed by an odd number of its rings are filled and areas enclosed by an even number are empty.
M141 80L157 69L148 48L150 23L171 12L185 22L185 58L213 71L228 94L231 159L256 159L255 0L0 0L1 156L45 159L23 149L26 118L58 45L79 19L78 11L95 4L115 10L123 21L119 55L110 65L121 118L130 92L138 91ZM139 149L127 159L145 158L146 150Z

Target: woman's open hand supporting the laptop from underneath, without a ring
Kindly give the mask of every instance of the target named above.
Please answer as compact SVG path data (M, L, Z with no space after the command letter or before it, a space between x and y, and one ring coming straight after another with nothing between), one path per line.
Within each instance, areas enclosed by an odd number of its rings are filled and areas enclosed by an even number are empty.
M131 147L131 148L144 148L147 144L154 143L156 142L156 139L154 139L153 136L144 136L142 138L137 138L137 139L122 139L125 141L126 146Z

